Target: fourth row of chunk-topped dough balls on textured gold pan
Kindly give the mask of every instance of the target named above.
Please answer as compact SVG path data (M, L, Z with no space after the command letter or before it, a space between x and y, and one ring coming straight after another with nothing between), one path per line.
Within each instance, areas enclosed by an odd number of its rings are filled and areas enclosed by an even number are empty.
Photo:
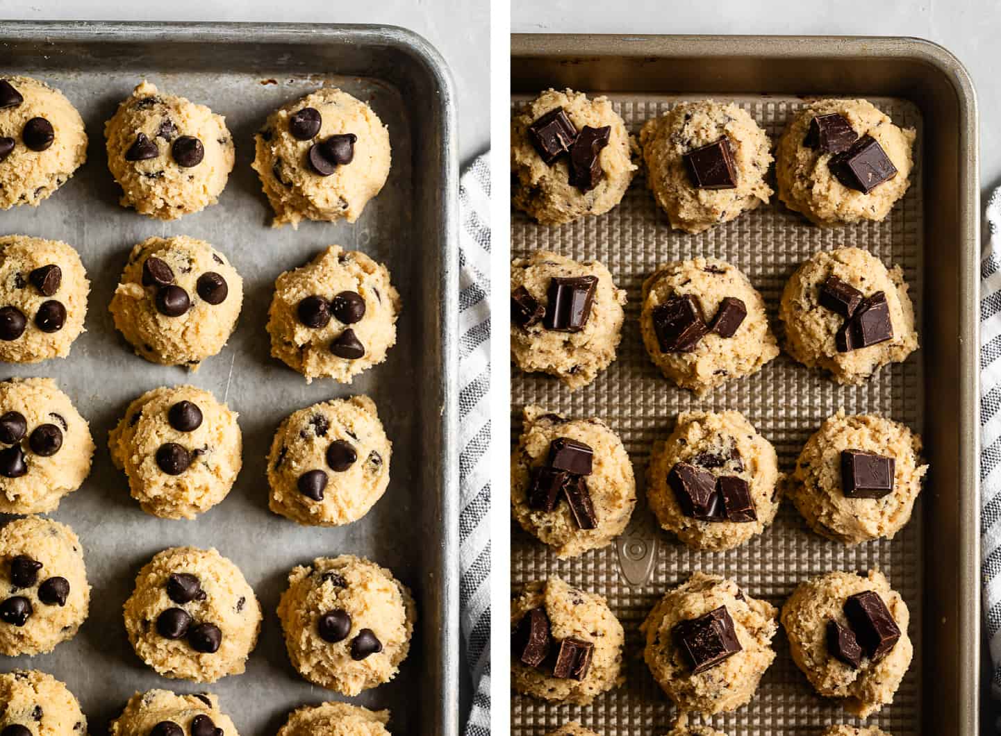
M863 652L858 666L853 666L829 646L828 629L832 621L846 630L855 628L857 622L849 619L844 609L849 597L860 593L878 596L896 624L899 638L892 645L888 638L883 651L873 651L867 649L871 642L860 635ZM686 650L678 625L711 612L722 613L721 608L732 621L732 635L737 641L737 646L728 649L737 651L708 667L698 667L694 653ZM531 614L539 610L545 616ZM584 642L590 648L583 677L558 677L549 660L535 664L538 657L522 656L523 650L529 650L524 622L530 616L537 618L532 628L538 638L530 645L537 652L545 648L540 647L539 639L546 640L551 652L562 650L561 642L568 639ZM879 570L830 572L805 580L786 601L781 619L775 606L752 598L733 580L693 573L687 582L668 590L641 625L644 660L680 712L731 712L751 701L774 661L772 639L780 620L793 660L819 695L836 699L858 718L868 718L893 702L914 648L907 633L907 604ZM574 588L559 577L529 583L513 597L511 627L512 685L520 693L586 706L626 681L625 632L600 595Z

